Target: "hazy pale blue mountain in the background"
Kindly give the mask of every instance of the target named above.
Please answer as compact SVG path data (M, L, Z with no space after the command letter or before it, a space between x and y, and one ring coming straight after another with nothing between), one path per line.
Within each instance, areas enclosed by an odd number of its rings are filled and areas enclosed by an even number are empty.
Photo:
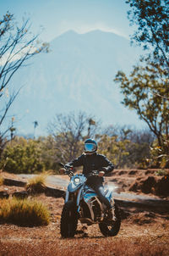
M50 53L41 53L14 76L14 86L23 86L11 114L16 114L19 134L46 134L57 113L85 111L104 125L136 125L138 116L121 104L123 96L113 79L118 70L129 72L140 49L113 33L65 32L50 43Z

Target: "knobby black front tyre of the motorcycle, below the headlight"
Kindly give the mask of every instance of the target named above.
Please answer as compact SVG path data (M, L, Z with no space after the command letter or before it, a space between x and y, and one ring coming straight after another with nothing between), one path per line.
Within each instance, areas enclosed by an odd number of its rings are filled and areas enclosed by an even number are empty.
M63 206L61 215L60 232L64 238L74 237L78 225L77 207L73 201L68 201Z

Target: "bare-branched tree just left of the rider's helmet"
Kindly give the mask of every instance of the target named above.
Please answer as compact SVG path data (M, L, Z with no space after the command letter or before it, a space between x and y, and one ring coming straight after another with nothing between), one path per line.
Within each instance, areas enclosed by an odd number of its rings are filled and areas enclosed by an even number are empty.
M48 125L48 131L55 140L55 148L60 152L60 158L70 161L83 151L83 141L88 133L91 117L83 112L75 115L57 114ZM95 122L97 127L97 123Z

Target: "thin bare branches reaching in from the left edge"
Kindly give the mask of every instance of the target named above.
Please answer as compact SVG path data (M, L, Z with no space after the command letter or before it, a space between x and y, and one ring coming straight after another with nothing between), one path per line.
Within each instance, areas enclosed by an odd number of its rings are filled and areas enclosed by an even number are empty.
M0 100L3 106L0 109L0 141L3 137L7 137L11 127L2 130L4 120L7 119L8 109L14 103L19 91L12 94L8 103L3 102L4 88L10 89L9 82L13 78L16 71L33 56L43 51L47 51L48 45L36 42L37 35L30 34L30 19L18 26L14 23L14 15L5 14L3 19L0 19ZM1 147L1 142L0 142ZM1 157L1 152L0 152Z

